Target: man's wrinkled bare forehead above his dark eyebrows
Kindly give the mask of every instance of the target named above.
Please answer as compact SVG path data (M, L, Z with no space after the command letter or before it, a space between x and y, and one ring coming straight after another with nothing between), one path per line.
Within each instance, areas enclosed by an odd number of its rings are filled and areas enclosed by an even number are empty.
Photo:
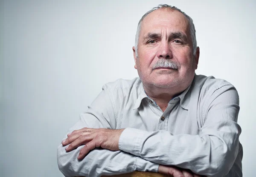
M148 14L141 23L140 34L142 36L162 31L182 32L189 35L189 22L179 11L172 9L157 9Z

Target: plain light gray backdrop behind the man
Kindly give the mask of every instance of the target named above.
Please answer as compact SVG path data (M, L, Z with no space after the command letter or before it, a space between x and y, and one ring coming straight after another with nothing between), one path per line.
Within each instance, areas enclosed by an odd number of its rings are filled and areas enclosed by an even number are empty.
M197 74L239 91L244 177L255 171L255 0L0 2L0 176L61 177L56 148L104 83L137 77L140 17L160 3L189 14L201 54Z

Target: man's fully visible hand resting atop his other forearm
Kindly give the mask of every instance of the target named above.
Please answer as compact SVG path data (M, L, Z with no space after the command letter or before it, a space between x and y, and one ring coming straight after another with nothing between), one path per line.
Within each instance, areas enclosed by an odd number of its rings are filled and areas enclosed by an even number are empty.
M81 148L78 159L82 160L88 152L96 147L102 147L112 151L119 150L119 138L124 129L107 128L82 128L67 135L67 139L62 141L63 146L67 146L66 151L85 145Z

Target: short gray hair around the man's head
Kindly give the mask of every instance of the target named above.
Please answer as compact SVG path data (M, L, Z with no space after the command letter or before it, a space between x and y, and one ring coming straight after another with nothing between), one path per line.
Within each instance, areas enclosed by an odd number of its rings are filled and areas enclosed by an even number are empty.
M157 7L154 7L153 9L151 9L150 11L146 12L140 19L139 23L138 23L138 27L137 27L137 32L136 32L136 37L135 37L135 52L136 52L136 56L138 56L138 41L139 41L139 36L140 36L140 30L141 30L141 23L143 21L143 19L148 16L148 14L150 14L152 11L155 11L157 9L163 9L163 8L170 8L176 11L181 12L189 21L189 31L190 31L190 37L192 40L192 48L193 48L193 55L195 56L195 52L196 52L196 47L197 47L197 43L196 43L196 37L195 37L195 25L193 23L193 20L191 17L189 17L187 14L185 14L185 12L181 11L180 9L178 9L175 6L169 6L167 4L160 4Z

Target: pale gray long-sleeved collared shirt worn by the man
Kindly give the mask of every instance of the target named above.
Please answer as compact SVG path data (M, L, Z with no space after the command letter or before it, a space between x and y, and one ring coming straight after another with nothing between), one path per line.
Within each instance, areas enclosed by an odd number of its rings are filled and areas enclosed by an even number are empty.
M158 164L212 177L242 176L239 97L225 80L195 75L164 112L145 94L139 78L117 80L103 86L88 108L68 133L83 127L125 128L120 151L96 148L79 161L83 146L66 152L60 145L58 166L65 176L157 172Z

